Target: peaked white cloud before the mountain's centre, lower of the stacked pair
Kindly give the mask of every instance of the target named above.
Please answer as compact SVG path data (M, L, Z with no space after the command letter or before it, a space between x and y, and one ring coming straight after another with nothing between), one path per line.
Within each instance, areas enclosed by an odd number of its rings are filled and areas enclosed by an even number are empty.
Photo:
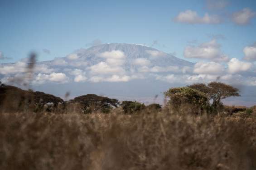
M123 74L125 70L119 66L110 66L106 62L100 62L89 67L92 74Z

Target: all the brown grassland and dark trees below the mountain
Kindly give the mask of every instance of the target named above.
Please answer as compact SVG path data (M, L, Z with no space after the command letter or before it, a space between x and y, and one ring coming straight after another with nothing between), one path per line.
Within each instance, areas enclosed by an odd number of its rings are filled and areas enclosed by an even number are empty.
M1 84L0 170L255 170L256 110L215 84L170 88L165 106Z

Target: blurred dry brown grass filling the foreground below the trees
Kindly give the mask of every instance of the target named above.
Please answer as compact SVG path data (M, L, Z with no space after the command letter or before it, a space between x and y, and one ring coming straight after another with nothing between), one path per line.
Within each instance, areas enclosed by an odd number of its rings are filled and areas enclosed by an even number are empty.
M255 169L255 118L0 114L0 170Z

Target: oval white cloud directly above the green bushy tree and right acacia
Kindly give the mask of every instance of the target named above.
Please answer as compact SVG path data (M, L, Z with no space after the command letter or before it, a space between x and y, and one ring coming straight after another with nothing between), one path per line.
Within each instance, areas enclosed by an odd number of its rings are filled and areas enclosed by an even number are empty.
M224 66L215 62L198 62L194 65L193 72L196 74L222 74L225 71Z

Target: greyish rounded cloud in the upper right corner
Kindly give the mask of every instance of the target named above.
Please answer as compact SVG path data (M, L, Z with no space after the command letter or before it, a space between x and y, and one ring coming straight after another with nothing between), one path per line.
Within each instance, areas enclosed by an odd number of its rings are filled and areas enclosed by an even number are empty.
M232 21L239 25L250 23L251 18L255 17L256 12L251 11L249 8L244 8L241 11L232 14Z

